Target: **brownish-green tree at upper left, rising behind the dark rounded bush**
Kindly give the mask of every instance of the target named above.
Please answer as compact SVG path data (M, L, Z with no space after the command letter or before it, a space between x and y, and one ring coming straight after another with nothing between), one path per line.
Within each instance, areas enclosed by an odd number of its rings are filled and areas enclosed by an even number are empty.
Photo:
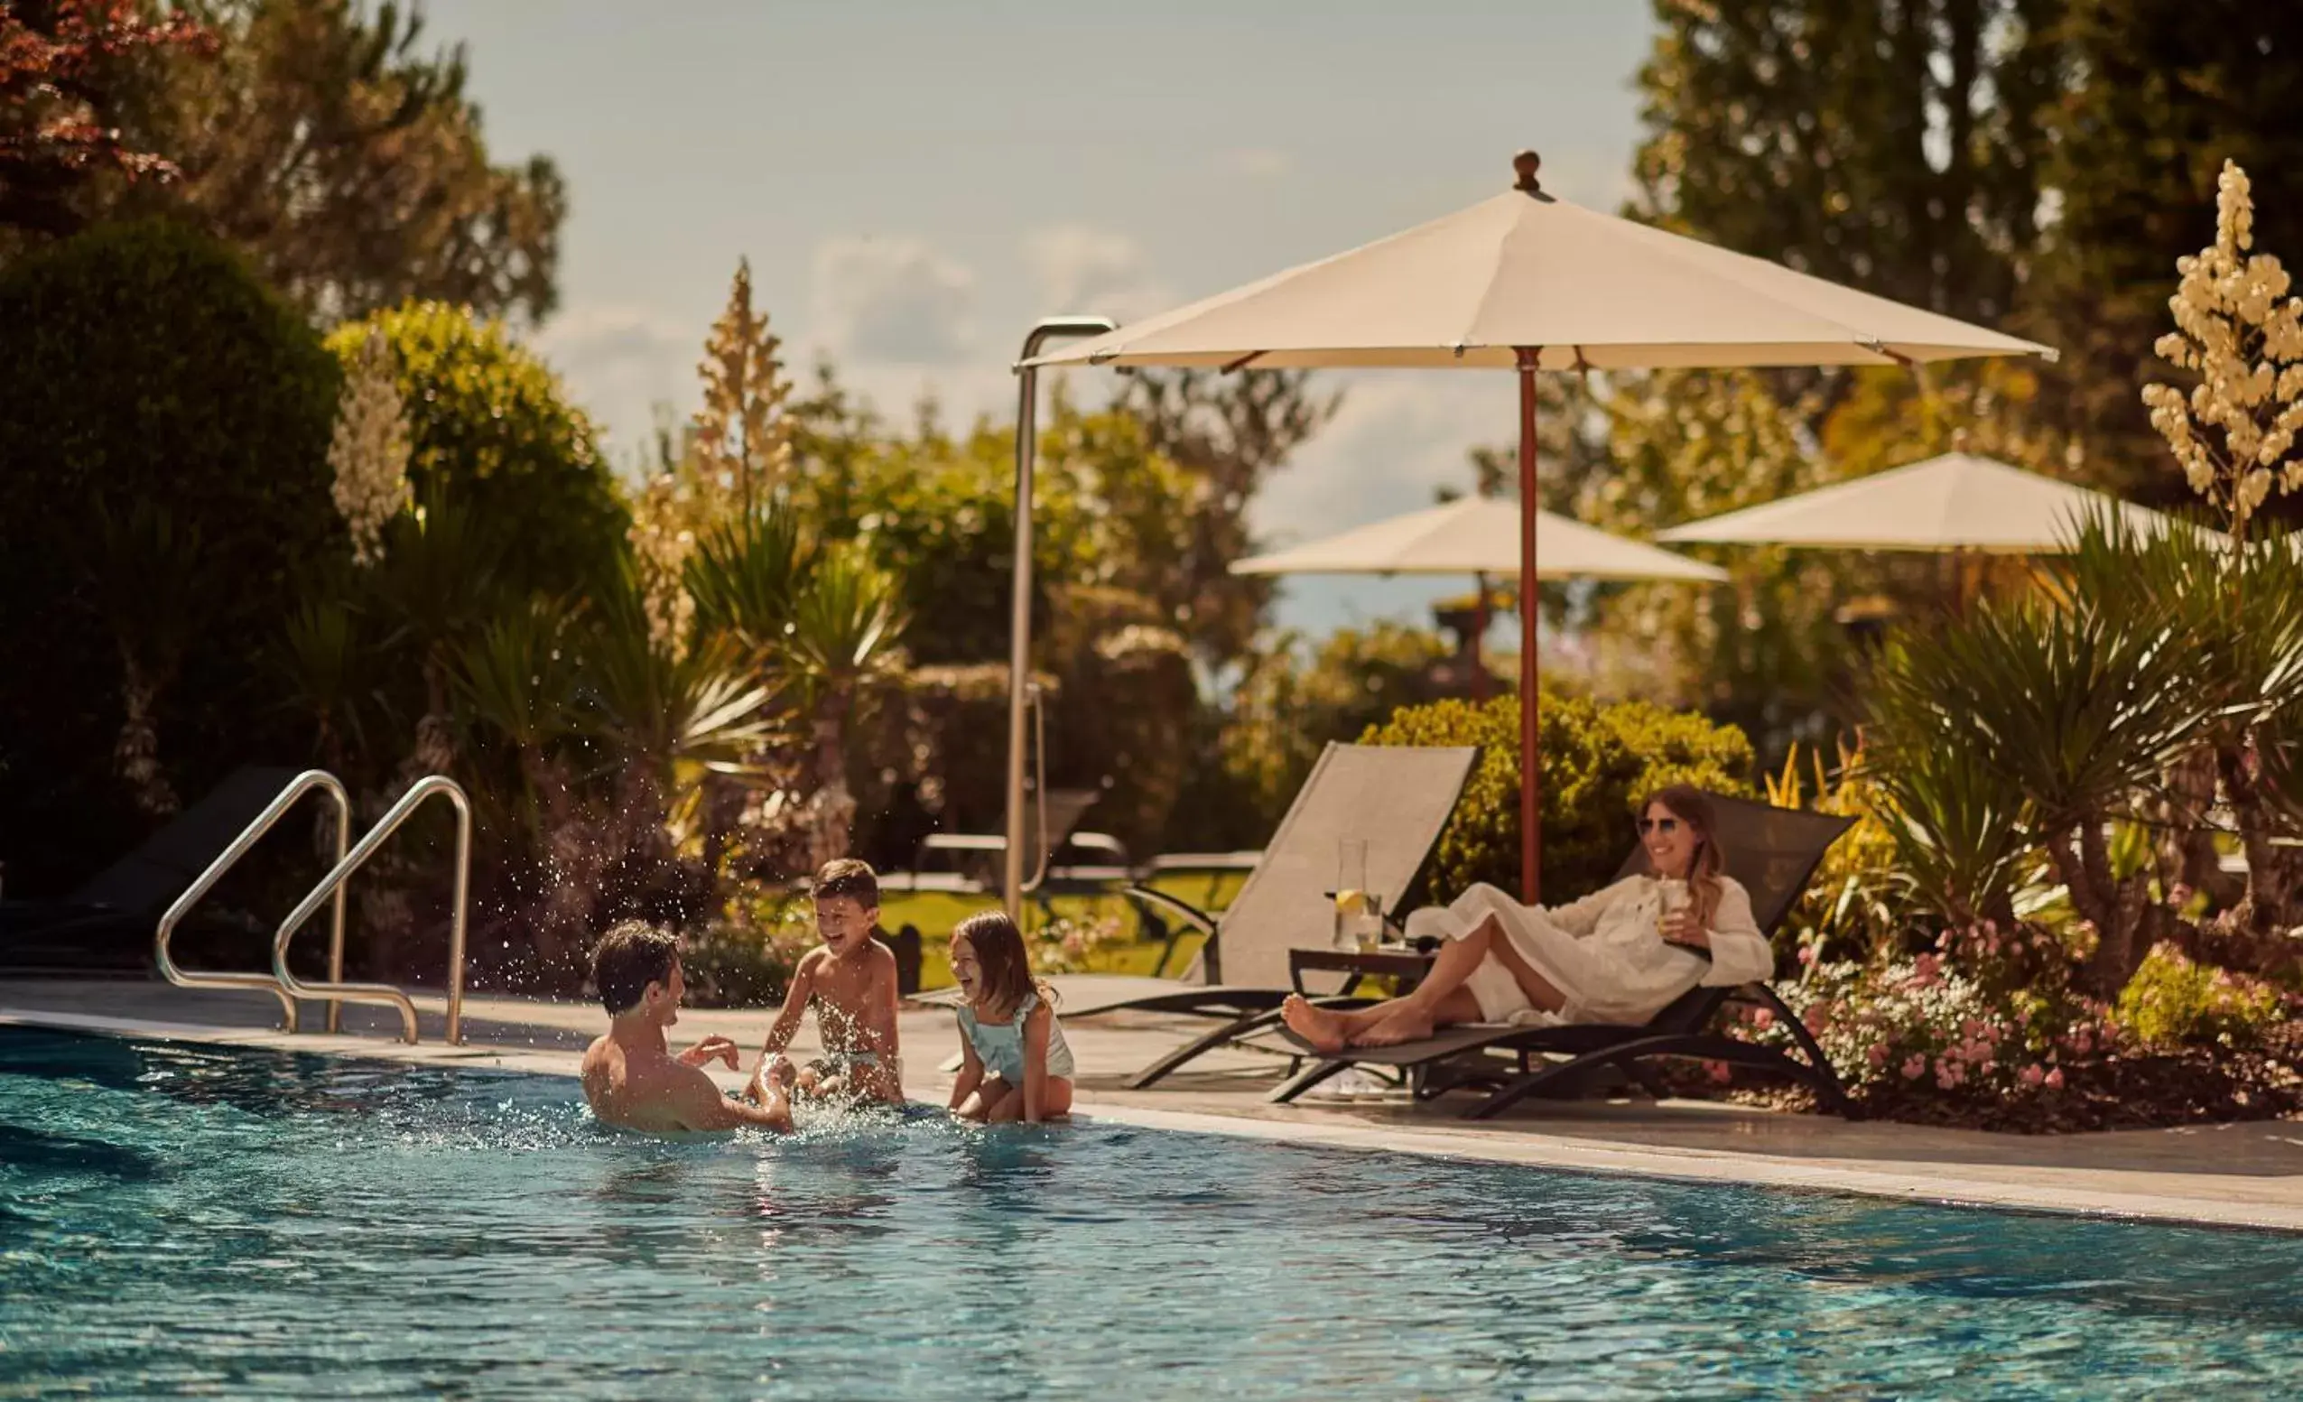
M127 69L122 138L182 180L85 184L71 212L166 212L240 246L320 325L405 299L541 322L560 302L567 189L546 157L493 163L461 46L412 5L191 0L214 58Z

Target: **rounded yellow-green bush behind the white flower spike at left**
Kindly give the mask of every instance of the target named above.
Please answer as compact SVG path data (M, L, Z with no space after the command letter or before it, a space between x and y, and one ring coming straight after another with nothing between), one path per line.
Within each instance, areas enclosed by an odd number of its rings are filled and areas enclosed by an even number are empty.
M371 329L398 364L419 502L440 493L479 520L518 523L502 559L514 594L578 589L613 566L629 513L592 421L544 361L444 302L345 322L327 345L350 366Z

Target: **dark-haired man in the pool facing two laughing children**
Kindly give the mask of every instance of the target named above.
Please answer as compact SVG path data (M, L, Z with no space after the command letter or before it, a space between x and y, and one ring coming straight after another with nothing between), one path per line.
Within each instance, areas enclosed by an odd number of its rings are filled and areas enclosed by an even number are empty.
M772 1068L762 1057L744 1098L730 1100L702 1068L721 1059L735 1070L732 1041L707 1036L672 1057L663 1029L679 1022L686 976L670 935L640 921L615 925L592 951L592 983L608 1008L608 1036L583 1054L583 1094L601 1123L654 1135L792 1128L790 1064Z

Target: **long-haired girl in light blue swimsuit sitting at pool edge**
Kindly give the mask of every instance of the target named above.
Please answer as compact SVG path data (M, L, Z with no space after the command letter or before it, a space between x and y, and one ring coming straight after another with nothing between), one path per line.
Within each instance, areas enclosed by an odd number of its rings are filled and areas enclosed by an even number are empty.
M951 932L951 976L967 995L960 1013L960 1077L951 1110L986 1123L1071 1114L1071 1047L1052 995L1032 978L1023 930L1004 912L967 916Z

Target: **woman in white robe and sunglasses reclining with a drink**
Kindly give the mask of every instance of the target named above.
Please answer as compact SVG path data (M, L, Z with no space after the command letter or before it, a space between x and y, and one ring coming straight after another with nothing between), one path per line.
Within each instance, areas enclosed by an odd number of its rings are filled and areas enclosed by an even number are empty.
M1700 983L1766 978L1776 958L1750 914L1750 893L1723 870L1711 803L1686 785L1640 806L1640 845L1654 875L1571 905L1520 905L1472 886L1455 905L1407 916L1407 937L1446 944L1414 992L1350 1013L1290 997L1297 1036L1338 1052L1386 1047L1458 1022L1642 1024Z

